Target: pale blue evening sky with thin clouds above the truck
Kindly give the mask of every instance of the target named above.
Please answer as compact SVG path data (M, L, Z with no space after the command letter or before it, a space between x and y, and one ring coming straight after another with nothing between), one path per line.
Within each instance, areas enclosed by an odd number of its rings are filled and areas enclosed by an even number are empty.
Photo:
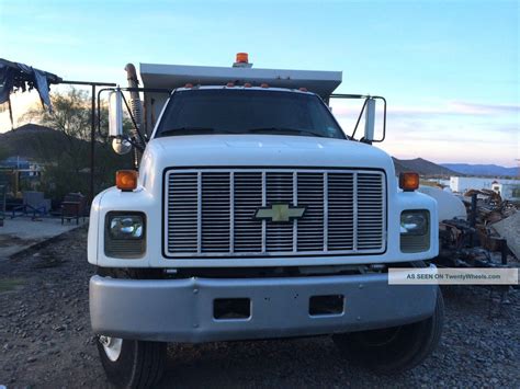
M388 101L377 144L388 153L513 167L519 14L519 1L504 0L0 0L0 57L122 85L127 62L230 66L238 52L256 68L341 70L338 93ZM36 101L13 96L18 125ZM359 108L332 103L347 134ZM0 112L0 133L10 128Z

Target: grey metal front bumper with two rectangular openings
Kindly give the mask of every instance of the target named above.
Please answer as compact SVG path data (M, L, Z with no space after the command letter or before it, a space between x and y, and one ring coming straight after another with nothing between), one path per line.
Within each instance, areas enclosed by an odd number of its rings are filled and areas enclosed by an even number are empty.
M343 311L310 316L312 296L344 296ZM249 298L247 319L214 318L214 300ZM388 285L386 274L281 277L90 279L98 334L165 342L305 336L406 324L433 314L436 285Z

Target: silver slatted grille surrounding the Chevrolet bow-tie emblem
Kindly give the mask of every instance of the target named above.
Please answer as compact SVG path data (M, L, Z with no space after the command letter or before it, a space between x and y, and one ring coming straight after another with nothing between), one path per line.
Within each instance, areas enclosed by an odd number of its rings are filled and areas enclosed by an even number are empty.
M380 253L385 250L385 175L363 170L170 170L165 251L181 256ZM261 207L305 208L287 222Z

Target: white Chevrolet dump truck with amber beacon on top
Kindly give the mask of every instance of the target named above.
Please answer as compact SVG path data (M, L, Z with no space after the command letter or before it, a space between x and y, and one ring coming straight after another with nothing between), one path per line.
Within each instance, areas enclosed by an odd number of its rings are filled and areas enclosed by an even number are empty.
M341 72L240 54L228 68L142 64L140 79L134 133L122 90L109 110L114 150L135 148L138 170L90 214L90 316L111 381L157 382L168 342L332 335L382 374L432 352L438 287L388 285L388 268L431 266L437 204L372 146L373 98L358 140L328 106Z

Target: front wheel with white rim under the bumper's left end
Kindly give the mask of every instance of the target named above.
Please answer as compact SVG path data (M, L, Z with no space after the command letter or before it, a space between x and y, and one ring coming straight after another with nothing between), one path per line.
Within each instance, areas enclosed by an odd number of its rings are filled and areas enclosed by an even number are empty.
M98 351L109 380L121 388L150 388L162 377L166 343L99 336Z

